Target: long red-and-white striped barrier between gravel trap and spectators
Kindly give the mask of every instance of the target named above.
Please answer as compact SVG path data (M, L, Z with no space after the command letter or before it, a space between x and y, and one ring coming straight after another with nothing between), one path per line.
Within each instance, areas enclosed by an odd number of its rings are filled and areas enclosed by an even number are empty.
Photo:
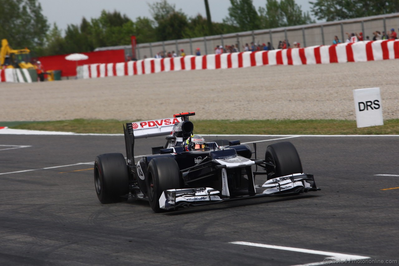
M142 75L149 73L225 69L265 65L310 65L366 62L399 58L399 40L344 43L284 50L209 54L175 58L147 58L116 64L83 66L83 78Z

